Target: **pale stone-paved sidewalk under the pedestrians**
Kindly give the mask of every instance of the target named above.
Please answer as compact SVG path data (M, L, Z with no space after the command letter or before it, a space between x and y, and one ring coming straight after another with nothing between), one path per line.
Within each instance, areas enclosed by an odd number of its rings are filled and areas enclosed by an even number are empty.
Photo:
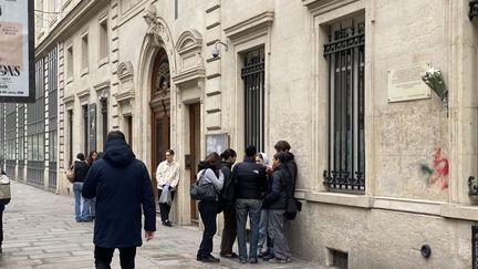
M0 268L94 268L93 223L74 220L74 197L48 193L12 180L12 200L3 211L3 254ZM193 226L164 227L157 221L156 237L144 241L136 268L330 268L292 259L291 263L241 265L224 259L216 265L196 261L202 232ZM220 237L215 237L218 256ZM235 246L237 248L237 245ZM115 251L112 268L119 268Z

